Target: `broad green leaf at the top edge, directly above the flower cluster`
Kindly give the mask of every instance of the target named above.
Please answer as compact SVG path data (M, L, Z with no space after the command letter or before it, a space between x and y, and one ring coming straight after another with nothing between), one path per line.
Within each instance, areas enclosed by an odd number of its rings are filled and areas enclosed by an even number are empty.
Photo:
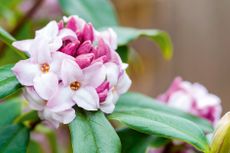
M68 15L79 15L97 28L117 25L117 17L110 0L59 0Z

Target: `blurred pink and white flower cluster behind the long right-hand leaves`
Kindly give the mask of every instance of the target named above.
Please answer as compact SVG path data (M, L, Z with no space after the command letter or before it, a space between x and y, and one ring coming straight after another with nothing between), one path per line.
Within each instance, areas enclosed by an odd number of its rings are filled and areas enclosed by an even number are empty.
M199 83L190 83L177 77L169 89L158 97L169 106L182 109L209 120L213 125L221 115L221 101ZM183 106L183 107L181 107Z

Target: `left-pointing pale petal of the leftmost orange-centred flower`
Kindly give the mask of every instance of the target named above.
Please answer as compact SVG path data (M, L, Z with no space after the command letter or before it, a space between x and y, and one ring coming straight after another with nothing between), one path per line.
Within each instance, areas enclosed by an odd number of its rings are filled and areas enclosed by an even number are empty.
M18 81L25 86L33 85L33 79L41 73L38 64L33 64L29 59L16 63L12 71Z

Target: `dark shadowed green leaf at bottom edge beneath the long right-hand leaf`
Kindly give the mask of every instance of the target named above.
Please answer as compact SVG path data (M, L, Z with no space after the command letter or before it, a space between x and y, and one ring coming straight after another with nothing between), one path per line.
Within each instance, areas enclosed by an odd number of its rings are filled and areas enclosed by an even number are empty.
M150 145L161 146L168 143L168 139L139 133L129 128L120 129L117 134L121 140L122 153L144 153Z

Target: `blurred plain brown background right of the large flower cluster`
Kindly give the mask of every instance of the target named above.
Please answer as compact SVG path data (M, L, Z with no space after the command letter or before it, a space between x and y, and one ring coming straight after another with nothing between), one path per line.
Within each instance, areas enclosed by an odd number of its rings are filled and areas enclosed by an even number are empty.
M230 110L229 0L114 0L122 25L169 32L174 57L167 62L159 49L141 40L134 44L144 61L135 90L156 96L175 76L200 82L220 96Z

